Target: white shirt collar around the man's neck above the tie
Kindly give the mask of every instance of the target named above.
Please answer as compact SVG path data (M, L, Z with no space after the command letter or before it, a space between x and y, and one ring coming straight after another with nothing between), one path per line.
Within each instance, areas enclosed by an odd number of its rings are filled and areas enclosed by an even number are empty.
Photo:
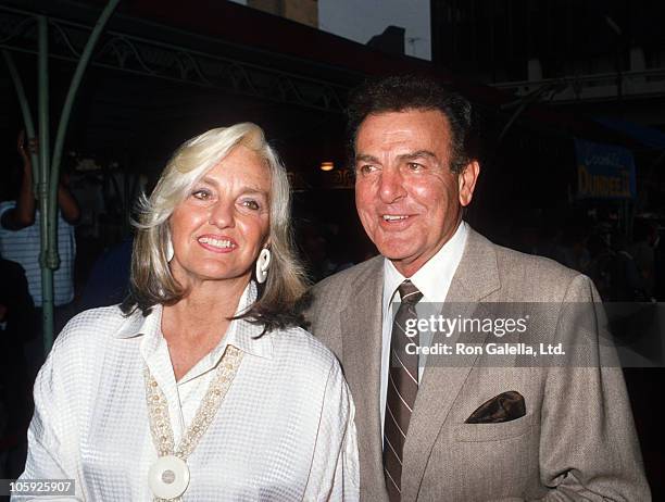
M467 235L466 223L460 223L448 242L410 277L411 281L423 293L423 301L432 303L446 301L448 289L457 265L460 265L462 254L464 254ZM390 302L397 300L397 298L393 298L397 288L406 280L406 277L400 274L390 260L386 259L384 265L384 312L387 312Z

